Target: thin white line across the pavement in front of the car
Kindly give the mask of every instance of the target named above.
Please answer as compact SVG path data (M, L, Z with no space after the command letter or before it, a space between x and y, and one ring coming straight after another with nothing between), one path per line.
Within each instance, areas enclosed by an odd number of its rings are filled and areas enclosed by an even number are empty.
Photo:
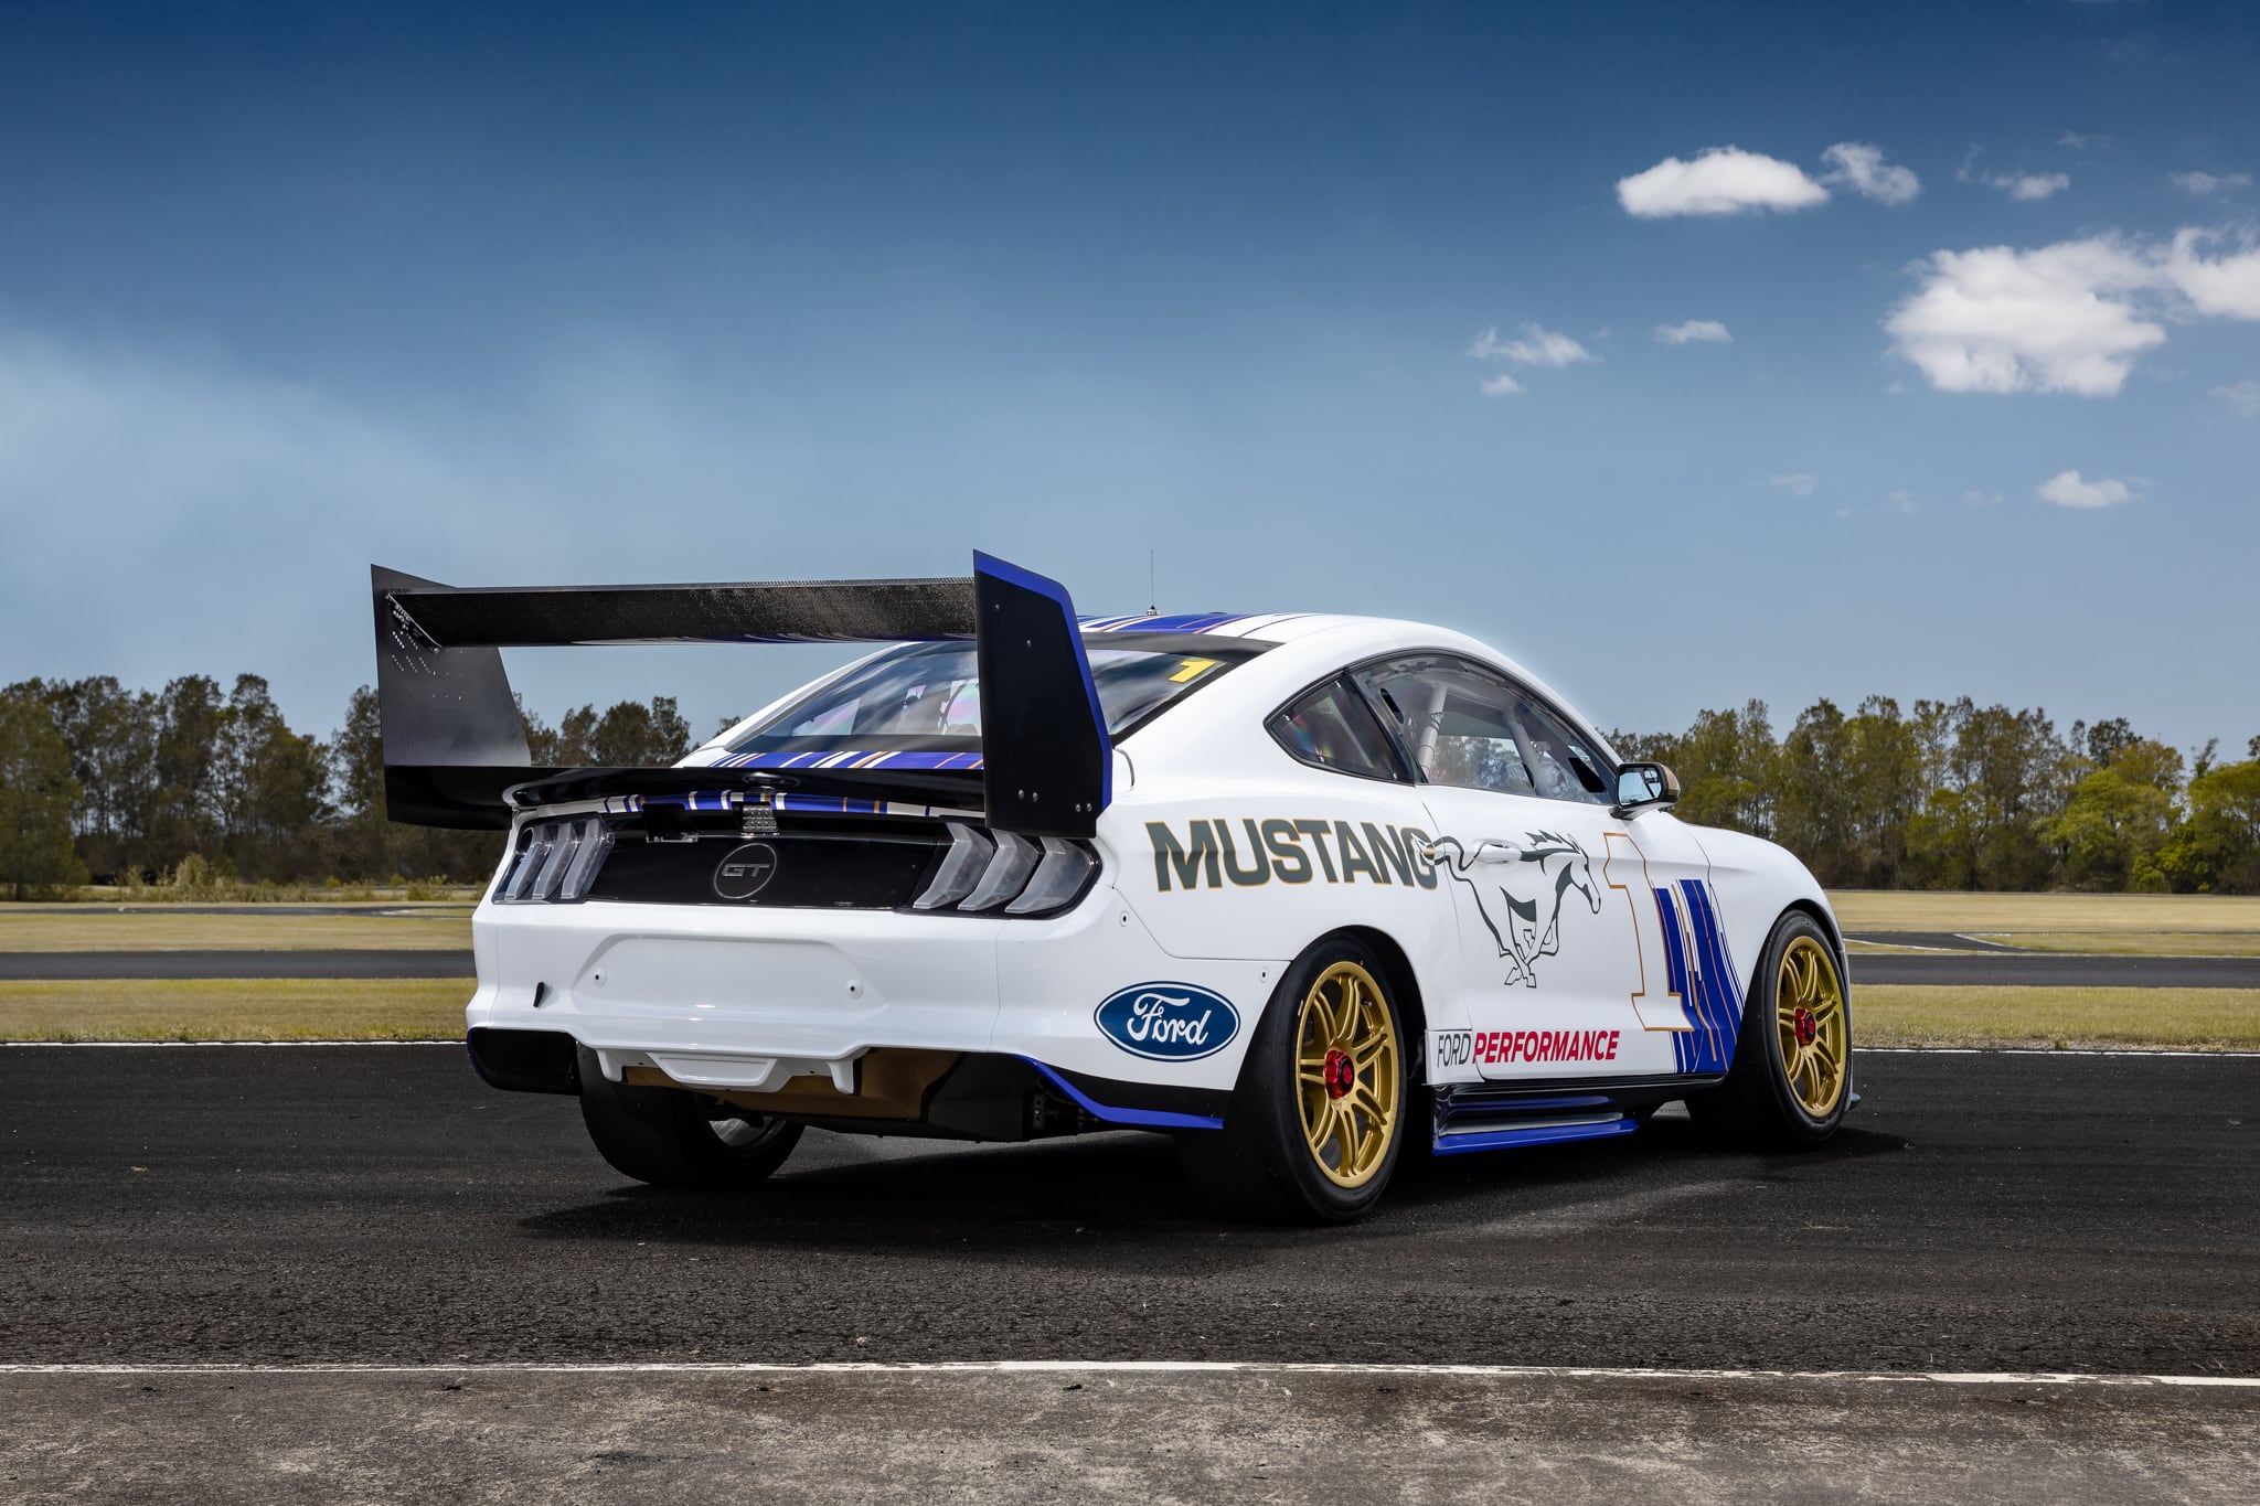
M1516 1364L1290 1364L1241 1359L940 1359L834 1364L0 1364L0 1375L1440 1375L1464 1380L1817 1380L1937 1386L2213 1386L2255 1375L2088 1375L2014 1371L1670 1371Z

